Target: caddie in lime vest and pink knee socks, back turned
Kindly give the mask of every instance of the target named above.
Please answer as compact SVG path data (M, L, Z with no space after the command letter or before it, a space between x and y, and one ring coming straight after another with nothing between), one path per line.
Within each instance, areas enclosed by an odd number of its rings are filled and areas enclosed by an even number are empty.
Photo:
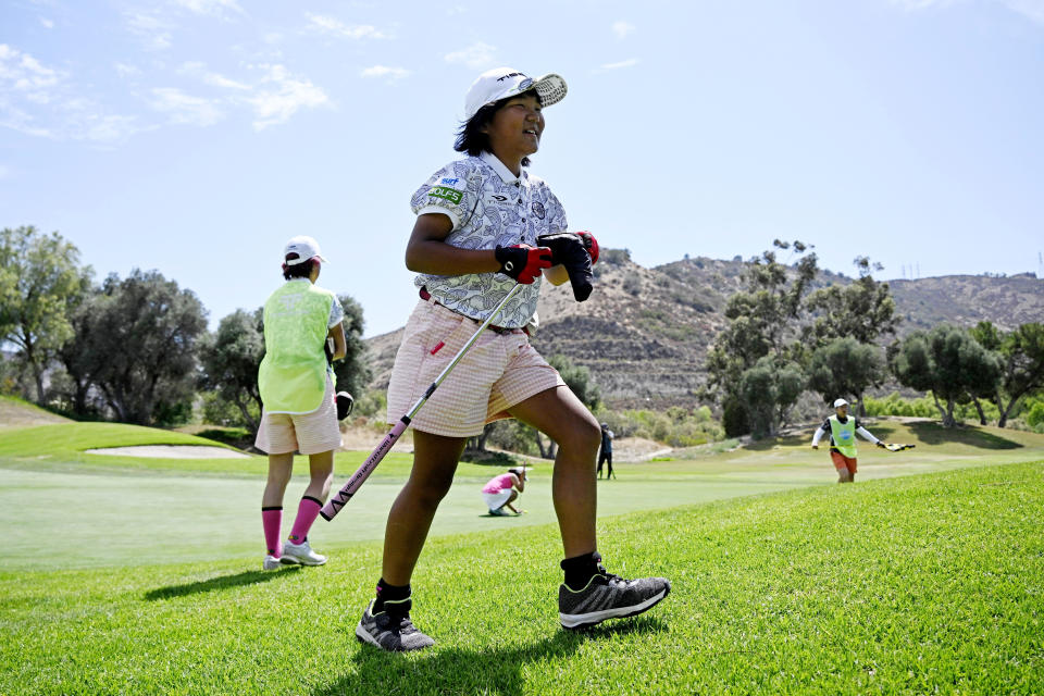
M340 447L326 339L334 340L334 360L346 353L340 302L333 293L315 285L325 262L319 243L311 237L294 237L283 256L286 283L264 303L265 352L258 370L264 409L254 446L269 455L269 482L261 498L265 570L326 562L326 557L313 551L308 543L308 532L330 494L334 450ZM295 451L308 455L311 482L290 535L282 544L283 494L294 472Z

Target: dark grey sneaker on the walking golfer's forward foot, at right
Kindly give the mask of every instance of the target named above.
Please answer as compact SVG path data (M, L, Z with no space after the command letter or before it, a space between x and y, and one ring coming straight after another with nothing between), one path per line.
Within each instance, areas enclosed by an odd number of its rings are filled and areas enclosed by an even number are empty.
M601 572L583 589L570 589L566 583L558 588L558 619L562 627L586 629L606 619L635 617L671 593L671 581L666 577L624 580L606 572L600 563L598 569Z

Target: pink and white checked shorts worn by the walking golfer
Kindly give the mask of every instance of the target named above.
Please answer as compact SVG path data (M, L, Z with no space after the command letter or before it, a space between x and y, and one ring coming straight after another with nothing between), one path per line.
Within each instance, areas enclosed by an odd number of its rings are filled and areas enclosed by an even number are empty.
M388 384L388 423L397 423L456 357L481 322L421 300L410 314ZM511 418L509 408L564 386L522 331L482 332L414 417L422 433L473 437L486 423Z

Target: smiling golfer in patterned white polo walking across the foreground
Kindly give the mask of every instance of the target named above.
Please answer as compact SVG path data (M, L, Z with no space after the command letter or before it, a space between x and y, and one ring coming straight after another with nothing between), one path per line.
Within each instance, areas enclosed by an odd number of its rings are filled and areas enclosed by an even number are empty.
M562 204L525 169L539 147L544 110L564 96L566 80L558 75L533 79L508 67L482 74L465 98L455 145L468 157L432 175L411 200L417 222L406 264L420 274L421 300L391 371L389 422L424 394L477 326L486 319L490 325L412 420L413 469L388 513L376 597L356 626L360 641L383 650L434 644L410 618L413 569L464 444L501 418L517 418L559 445L551 495L566 557L561 624L580 629L634 616L670 592L666 579L625 581L601 566L595 534L598 421L526 333L545 269L563 266L577 301L592 291L594 238L567 232Z

